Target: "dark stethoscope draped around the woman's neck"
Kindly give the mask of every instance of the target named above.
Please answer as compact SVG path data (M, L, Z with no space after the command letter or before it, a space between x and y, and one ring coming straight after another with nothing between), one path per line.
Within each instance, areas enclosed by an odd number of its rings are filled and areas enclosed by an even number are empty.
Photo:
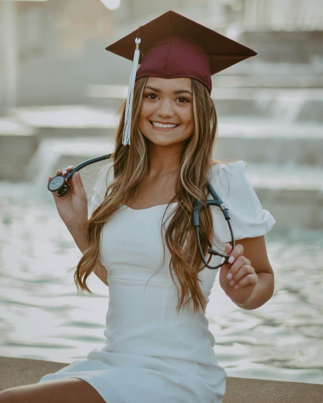
M47 189L49 191L51 191L51 192L55 192L58 197L65 196L69 192L69 188L70 188L70 186L69 186L69 184L67 182L71 179L71 177L73 176L73 174L75 172L79 171L81 168L84 168L84 166L93 164L94 162L108 160L109 158L111 158L111 156L113 156L113 153L104 154L104 155L101 155L99 157L91 158L90 160L84 161L81 164L78 164L77 166L75 166L72 170L67 172L66 175L63 175L63 174L56 175L55 177L53 177L49 181L49 183L47 185ZM233 232L232 232L232 228L231 228L231 224L230 224L229 209L222 202L222 200L220 199L220 197L218 196L218 194L213 189L213 187L212 187L212 185L210 183L208 183L207 187L208 187L208 191L213 196L213 199L206 200L206 206L218 206L218 207L220 207L220 209L221 209L221 211L222 211L222 213L224 215L224 218L227 220L227 223L228 223L228 226L229 226L229 230L230 230L230 234L231 234L231 241L232 241L232 249L233 249L235 247L235 239L233 237ZM193 220L194 220L194 226L195 226L195 234L196 234L197 246L199 248L199 253L201 255L201 259L202 259L203 263L205 264L205 266L208 267L209 269L217 269L220 266L222 266L223 264L228 263L229 255L222 255L222 253L216 251L212 247L209 247L208 248L208 253L210 253L210 255L222 256L222 258L224 258L224 262L221 263L221 264L218 264L218 266L210 266L205 260L205 257L203 255L203 251L201 249L200 239L199 239L199 210L201 210L201 208L206 207L206 206L204 206L201 203L200 199L197 199L197 201L195 202L195 206L193 208Z

